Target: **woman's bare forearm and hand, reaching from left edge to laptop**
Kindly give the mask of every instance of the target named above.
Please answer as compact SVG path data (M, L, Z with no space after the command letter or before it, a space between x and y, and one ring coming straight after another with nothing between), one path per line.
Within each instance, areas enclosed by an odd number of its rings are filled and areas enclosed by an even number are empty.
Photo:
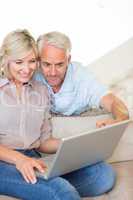
M27 183L36 183L34 168L44 173L46 166L43 161L30 158L20 152L0 145L0 160L14 164Z

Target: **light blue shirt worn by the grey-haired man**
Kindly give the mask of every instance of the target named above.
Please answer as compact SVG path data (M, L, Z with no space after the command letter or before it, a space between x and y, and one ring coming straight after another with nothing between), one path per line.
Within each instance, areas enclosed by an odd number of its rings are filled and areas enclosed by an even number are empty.
M47 85L53 98L52 112L64 115L77 115L89 108L98 108L100 100L108 92L94 75L80 63L69 64L65 80L59 90L54 93L41 73L35 79Z

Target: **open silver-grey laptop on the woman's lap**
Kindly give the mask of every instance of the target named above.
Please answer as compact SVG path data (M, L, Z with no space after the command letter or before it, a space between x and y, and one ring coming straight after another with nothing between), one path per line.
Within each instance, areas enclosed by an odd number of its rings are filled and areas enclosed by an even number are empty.
M125 120L62 138L56 154L41 158L47 170L37 172L37 176L49 179L108 159L129 122Z

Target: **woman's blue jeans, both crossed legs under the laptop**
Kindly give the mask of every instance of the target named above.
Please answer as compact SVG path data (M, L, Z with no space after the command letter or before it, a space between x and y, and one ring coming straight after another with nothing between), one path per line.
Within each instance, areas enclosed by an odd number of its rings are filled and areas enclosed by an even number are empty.
M34 150L21 152L39 156ZM107 192L114 183L115 173L104 162L50 180L38 178L36 184L29 184L14 165L0 161L0 194L23 200L80 200Z

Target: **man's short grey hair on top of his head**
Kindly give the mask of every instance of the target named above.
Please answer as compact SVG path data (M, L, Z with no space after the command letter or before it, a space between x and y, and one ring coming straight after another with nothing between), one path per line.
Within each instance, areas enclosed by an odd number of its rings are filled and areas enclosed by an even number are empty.
M72 48L69 37L57 31L49 32L39 36L37 40L39 54L41 54L42 48L46 44L63 49L67 55L70 54Z

